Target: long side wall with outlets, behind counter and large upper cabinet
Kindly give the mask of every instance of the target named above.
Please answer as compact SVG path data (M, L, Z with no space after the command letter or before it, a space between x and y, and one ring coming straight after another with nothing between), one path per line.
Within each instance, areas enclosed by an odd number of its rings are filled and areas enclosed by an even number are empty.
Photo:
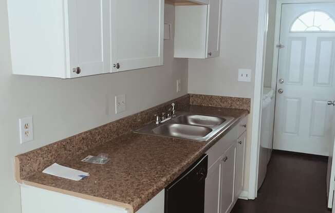
M173 7L165 6L165 22L173 23ZM187 94L188 60L173 58L169 40L163 67L69 80L12 75L6 8L6 0L0 0L0 212L19 213L15 155ZM182 89L177 94L178 78ZM115 115L118 94L126 94L127 111ZM20 145L18 118L27 115L33 115L35 138Z

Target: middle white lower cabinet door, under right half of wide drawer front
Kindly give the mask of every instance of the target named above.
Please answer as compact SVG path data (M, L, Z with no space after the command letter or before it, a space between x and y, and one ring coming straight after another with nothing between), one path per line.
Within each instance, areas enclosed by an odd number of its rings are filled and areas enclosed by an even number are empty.
M234 143L222 157L221 213L230 212L234 206L235 153Z

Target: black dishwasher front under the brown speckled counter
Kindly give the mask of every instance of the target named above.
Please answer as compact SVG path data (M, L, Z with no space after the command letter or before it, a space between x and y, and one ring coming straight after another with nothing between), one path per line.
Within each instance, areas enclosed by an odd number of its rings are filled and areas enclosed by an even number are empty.
M203 213L208 156L203 155L165 188L165 213Z

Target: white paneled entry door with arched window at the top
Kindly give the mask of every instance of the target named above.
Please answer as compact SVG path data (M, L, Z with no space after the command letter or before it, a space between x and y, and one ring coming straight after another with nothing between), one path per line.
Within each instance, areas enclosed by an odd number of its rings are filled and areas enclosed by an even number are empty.
M335 98L335 3L283 4L274 149L328 156Z

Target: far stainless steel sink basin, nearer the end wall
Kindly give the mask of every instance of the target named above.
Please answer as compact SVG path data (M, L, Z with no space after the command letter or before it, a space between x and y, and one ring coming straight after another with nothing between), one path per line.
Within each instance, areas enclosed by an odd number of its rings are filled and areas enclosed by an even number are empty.
M199 125L199 126L218 126L226 121L225 118L205 116L205 115L180 115L175 119L176 123L183 123L189 125Z

